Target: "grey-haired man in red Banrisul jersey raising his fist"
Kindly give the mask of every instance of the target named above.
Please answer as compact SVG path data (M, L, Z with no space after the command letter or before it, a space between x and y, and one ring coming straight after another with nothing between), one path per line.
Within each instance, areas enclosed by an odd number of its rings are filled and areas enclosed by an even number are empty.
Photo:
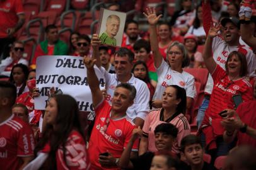
M87 79L91 89L93 107L96 118L91 132L88 152L91 169L120 169L119 158L128 144L132 130L135 128L132 120L126 116L126 111L133 104L136 89L128 83L117 85L113 94L112 106L103 100L99 81L93 68L96 60L84 57L87 68ZM138 141L132 147L137 152ZM133 152L133 154L134 154Z

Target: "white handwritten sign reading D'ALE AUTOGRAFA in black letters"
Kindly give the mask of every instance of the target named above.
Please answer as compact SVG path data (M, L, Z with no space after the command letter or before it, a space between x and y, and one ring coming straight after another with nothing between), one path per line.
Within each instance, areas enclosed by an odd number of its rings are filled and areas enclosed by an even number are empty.
M95 66L100 88L104 89L105 78ZM83 57L40 56L37 58L37 88L40 96L35 98L35 109L44 110L48 99L47 91L51 87L61 89L78 101L79 110L92 111L91 90L88 86L86 67Z

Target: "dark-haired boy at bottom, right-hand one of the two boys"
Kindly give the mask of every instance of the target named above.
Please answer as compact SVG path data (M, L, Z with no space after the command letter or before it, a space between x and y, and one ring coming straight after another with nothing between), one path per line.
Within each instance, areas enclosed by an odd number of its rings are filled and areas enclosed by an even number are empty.
M204 149L202 149L201 140L195 135L187 135L180 143L180 154L189 163L182 164L183 170L210 170L214 169L211 164L204 162Z

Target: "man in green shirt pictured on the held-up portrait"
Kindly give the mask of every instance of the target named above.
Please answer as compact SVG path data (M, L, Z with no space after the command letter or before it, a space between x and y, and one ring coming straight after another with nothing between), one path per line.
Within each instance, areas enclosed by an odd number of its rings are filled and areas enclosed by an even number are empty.
M107 18L106 22L106 30L100 35L100 40L102 41L102 44L107 45L117 45L117 40L115 39L115 36L117 35L119 31L120 26L120 18L119 16L115 14L111 14Z

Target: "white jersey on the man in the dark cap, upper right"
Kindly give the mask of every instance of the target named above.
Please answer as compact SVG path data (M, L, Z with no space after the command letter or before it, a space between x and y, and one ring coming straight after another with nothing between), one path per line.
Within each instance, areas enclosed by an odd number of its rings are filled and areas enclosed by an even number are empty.
M249 76L256 76L255 69L256 69L256 58L255 54L253 54L252 50L245 45L239 46L230 46L228 45L222 38L214 37L212 41L212 52L213 52L213 59L216 63L225 69L225 63L228 59L228 55L230 52L238 51L238 48L243 48L247 55L245 55L247 59L247 67L248 67L248 75ZM206 89L204 90L206 93L211 94L213 88L213 80L211 75L209 74L208 80L206 83Z

